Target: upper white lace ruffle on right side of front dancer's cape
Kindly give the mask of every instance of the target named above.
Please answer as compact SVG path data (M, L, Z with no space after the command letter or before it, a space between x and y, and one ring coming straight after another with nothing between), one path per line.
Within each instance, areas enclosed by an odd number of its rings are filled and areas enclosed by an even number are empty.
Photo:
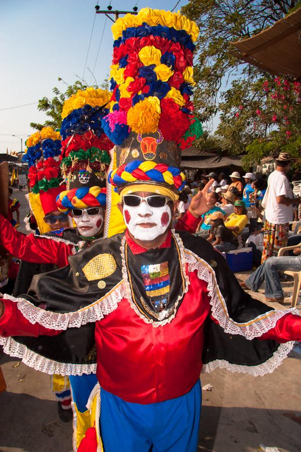
M192 251L185 250L185 253L189 272L197 270L198 278L207 282L212 316L226 333L241 334L248 340L252 340L254 337L260 337L269 329L274 328L283 315L289 312L299 315L299 311L296 308L270 310L249 320L247 323L235 322L228 314L227 306L220 292L213 269Z

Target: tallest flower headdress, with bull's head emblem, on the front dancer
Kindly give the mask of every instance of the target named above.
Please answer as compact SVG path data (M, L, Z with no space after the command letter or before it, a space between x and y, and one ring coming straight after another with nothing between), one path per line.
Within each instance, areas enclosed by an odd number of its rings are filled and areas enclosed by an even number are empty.
M181 149L202 134L190 100L198 27L179 13L143 8L112 31L113 92L102 121L116 145L108 181L120 194L147 184L177 199L185 185Z

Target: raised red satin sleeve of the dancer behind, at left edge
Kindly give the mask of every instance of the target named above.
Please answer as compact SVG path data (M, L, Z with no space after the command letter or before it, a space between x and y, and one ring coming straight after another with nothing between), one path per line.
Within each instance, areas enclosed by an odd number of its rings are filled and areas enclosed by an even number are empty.
M13 256L37 264L68 265L68 256L72 254L72 245L56 242L52 239L18 232L12 224L0 215L1 244Z

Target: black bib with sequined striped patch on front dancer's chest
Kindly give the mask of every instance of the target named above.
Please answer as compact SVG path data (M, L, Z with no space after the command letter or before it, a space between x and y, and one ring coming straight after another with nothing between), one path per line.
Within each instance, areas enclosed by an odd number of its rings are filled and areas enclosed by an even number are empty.
M124 258L132 302L149 321L174 317L185 290L180 250L172 238L170 248L132 254L125 242Z

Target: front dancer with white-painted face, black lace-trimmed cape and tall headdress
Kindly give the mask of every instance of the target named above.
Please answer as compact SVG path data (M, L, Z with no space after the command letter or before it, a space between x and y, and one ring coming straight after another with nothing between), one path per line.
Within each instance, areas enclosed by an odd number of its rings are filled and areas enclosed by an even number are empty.
M106 452L193 452L202 368L271 372L292 349L289 341L301 340L301 319L251 299L209 243L170 229L185 184L178 145L195 124L189 96L197 26L142 9L118 19L113 33L115 99L103 124L117 144L109 181L127 229L37 276L28 295L4 296L2 343L44 372L96 371L95 429ZM208 210L205 193L199 207ZM18 348L12 334L31 337ZM89 447L102 443L91 438Z

